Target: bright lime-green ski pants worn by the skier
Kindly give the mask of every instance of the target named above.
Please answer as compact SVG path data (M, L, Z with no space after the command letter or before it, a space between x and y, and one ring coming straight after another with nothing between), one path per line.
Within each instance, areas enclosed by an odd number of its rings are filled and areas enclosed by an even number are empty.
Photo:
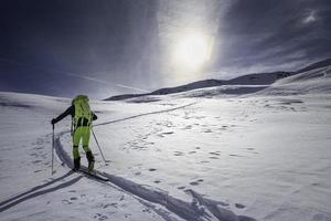
M74 159L79 158L78 146L79 146L81 139L83 141L83 149L85 150L85 152L90 151L90 149L88 148L89 136L90 136L89 127L78 127L78 128L76 128L76 130L74 133L74 136L73 136L73 144L74 144L73 154L74 154Z

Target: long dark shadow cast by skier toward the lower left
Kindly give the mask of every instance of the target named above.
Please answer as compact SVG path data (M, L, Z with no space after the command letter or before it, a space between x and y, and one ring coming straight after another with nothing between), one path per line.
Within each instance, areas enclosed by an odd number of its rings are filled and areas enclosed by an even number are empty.
M8 200L4 200L3 202L0 202L0 212L3 212L6 210L23 202L23 201L30 200L32 198L35 198L35 197L39 197L39 196L42 196L42 194L46 194L49 192L53 192L53 191L60 190L62 188L66 188L68 186L72 186L72 185L74 185L75 182L77 182L78 180L81 180L83 178L83 176L79 176L79 177L71 179L71 180L68 180L64 183L57 185L56 187L52 187L52 188L49 188L49 189L41 190L41 189L43 189L47 186L51 186L51 185L53 185L57 181L63 180L66 177L70 177L73 173L74 173L73 171L68 171L67 173L65 173L65 175L47 182L47 183L36 186L36 187L32 188L31 190L28 190L28 191L25 191L21 194L14 196L14 197L12 197Z

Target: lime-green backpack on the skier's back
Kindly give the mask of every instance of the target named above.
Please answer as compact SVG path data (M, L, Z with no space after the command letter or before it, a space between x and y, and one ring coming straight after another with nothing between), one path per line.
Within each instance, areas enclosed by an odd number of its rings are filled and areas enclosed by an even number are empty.
M83 125L84 118L87 120L87 125L90 126L93 114L88 105L88 97L86 95L78 95L73 99L73 105L75 105L74 128L77 127L79 120L81 125Z

